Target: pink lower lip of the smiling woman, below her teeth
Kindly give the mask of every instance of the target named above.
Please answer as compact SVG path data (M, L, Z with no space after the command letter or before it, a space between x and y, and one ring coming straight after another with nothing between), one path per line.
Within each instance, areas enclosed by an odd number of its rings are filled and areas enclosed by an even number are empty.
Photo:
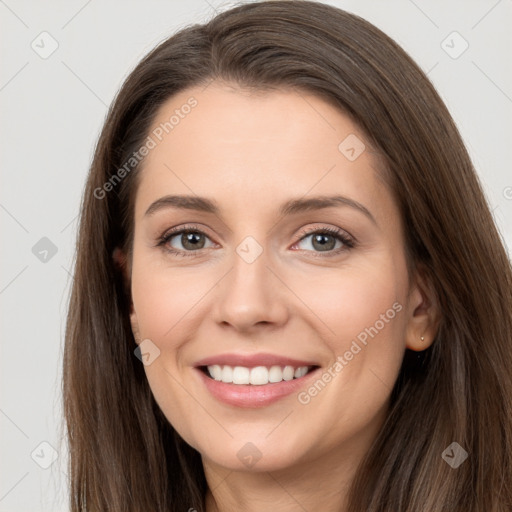
M310 371L304 377L292 380L283 380L273 384L261 386L249 384L226 384L208 377L202 370L195 368L203 380L208 391L221 402L235 407L265 407L281 398L298 393L310 380L318 368Z

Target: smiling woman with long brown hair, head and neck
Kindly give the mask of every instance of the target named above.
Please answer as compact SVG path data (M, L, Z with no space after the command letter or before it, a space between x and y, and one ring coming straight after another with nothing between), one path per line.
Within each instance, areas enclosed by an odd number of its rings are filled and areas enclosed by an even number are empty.
M130 74L87 181L71 509L505 511L511 268L412 60L243 5Z

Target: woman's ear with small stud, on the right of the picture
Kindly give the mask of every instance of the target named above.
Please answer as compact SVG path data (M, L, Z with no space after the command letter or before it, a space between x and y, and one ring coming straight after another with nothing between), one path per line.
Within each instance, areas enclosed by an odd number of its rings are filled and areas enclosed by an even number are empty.
M437 295L426 272L416 271L413 286L409 294L409 318L405 332L405 344L410 350L421 351L432 345L441 313Z

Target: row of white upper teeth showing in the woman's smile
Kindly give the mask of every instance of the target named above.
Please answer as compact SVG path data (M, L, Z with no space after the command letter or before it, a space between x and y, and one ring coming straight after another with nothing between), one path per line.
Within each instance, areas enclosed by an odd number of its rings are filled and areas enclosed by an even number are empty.
M283 380L299 379L308 373L307 366L294 368L293 366L220 366L214 364L208 366L208 373L212 379L225 382L226 384L252 384L262 386L269 383L281 382Z

